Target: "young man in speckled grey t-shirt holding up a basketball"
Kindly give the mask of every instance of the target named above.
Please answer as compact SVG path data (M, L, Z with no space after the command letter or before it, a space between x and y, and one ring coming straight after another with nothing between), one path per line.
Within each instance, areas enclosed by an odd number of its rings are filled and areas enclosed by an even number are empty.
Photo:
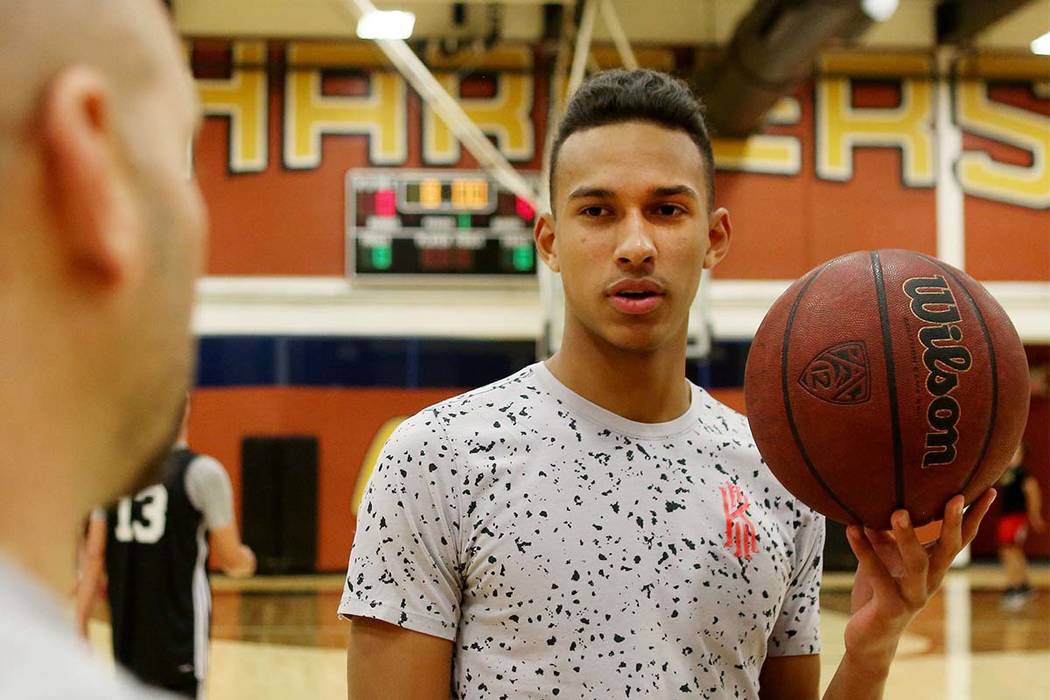
M340 606L350 696L817 697L822 517L684 376L700 272L732 231L699 104L663 73L602 73L551 170L536 240L565 287L562 347L391 439ZM954 499L930 554L904 513L896 543L850 529L854 614L825 697L880 697L989 503L964 523Z

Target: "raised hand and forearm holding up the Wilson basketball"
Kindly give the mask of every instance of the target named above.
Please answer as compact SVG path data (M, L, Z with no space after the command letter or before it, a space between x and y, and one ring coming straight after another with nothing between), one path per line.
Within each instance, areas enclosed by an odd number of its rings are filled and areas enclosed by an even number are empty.
M892 532L850 525L849 547L857 555L857 577L845 631L845 655L824 700L882 698L889 664L908 622L941 587L948 567L976 536L995 492L985 492L964 514L963 496L944 508L941 536L929 549L916 536L907 512L892 516Z

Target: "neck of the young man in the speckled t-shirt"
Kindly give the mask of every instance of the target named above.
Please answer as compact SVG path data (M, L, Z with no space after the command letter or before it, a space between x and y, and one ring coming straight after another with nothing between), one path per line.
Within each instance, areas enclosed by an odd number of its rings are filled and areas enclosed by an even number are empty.
M684 340L654 351L634 352L582 333L567 333L562 348L546 365L575 394L632 421L665 423L689 410L691 393L685 377Z

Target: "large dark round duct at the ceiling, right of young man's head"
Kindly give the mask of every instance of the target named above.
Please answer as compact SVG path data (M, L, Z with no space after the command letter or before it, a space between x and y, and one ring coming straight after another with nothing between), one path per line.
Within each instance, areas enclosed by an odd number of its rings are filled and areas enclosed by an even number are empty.
M872 20L860 0L756 0L721 63L698 76L708 119L720 136L744 136L813 71L828 42L858 36Z

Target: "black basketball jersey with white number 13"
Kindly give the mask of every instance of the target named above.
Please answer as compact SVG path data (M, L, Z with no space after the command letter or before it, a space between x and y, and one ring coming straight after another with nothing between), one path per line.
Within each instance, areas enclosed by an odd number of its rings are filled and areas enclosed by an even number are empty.
M106 513L106 572L113 656L148 683L204 678L211 590L204 515L186 471L198 455L176 448L164 479Z

